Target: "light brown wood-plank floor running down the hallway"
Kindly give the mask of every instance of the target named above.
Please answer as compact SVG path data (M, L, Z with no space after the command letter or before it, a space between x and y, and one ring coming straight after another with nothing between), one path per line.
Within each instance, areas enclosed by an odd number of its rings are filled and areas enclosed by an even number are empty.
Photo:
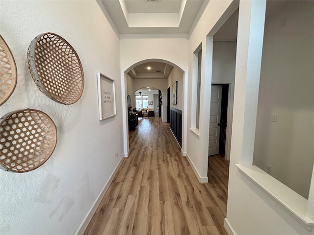
M123 160L84 235L227 235L229 164L209 157L200 184L160 118L139 118Z

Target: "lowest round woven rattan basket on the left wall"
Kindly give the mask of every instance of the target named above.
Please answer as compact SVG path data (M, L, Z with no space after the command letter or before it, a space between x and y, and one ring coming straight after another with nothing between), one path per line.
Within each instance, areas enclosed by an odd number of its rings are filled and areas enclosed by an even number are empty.
M44 164L55 148L57 130L52 119L35 109L6 114L0 122L0 164L27 172Z

